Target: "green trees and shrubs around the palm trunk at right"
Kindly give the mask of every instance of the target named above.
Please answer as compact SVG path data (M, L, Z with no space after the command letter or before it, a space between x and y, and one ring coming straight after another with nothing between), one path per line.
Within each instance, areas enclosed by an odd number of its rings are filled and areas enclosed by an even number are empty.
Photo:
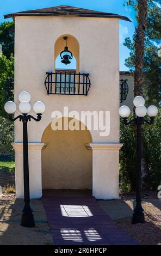
M145 49L143 66L143 92L146 105L157 105L161 101L161 58L158 56L158 45L161 37L160 23L160 0L147 0L147 25L145 31ZM135 9L135 16L138 20L138 1L128 0L127 4ZM130 57L126 59L126 66L132 74L135 70L135 33L133 40L125 39L125 46L131 51ZM161 110L153 125L143 125L144 157L148 163L148 176L145 179L156 189L160 184L161 173ZM132 117L131 117L132 118ZM123 191L135 189L136 172L136 143L134 138L135 130L132 125L123 125L120 120L120 141L123 147L120 151L120 176ZM145 181L146 181L145 180Z

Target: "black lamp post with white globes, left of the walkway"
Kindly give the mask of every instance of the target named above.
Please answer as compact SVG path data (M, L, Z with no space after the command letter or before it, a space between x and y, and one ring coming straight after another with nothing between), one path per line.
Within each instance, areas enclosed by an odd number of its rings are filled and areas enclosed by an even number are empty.
M41 120L41 115L45 111L45 105L41 101L34 103L34 111L37 114L37 118L29 115L30 111L30 95L27 92L22 92L19 95L21 101L19 109L22 112L21 115L13 118L13 113L16 111L16 104L13 101L5 103L5 111L9 113L9 120L16 121L19 119L23 123L23 182L24 182L24 208L22 210L21 225L23 227L32 228L35 227L33 210L30 208L30 192L29 192L29 164L28 164L28 133L27 123L31 119L35 121Z

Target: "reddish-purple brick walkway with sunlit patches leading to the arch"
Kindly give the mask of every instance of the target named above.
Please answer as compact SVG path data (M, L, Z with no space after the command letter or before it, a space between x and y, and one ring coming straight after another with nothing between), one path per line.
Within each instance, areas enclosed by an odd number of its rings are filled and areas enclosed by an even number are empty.
M43 197L55 245L138 245L92 197Z

